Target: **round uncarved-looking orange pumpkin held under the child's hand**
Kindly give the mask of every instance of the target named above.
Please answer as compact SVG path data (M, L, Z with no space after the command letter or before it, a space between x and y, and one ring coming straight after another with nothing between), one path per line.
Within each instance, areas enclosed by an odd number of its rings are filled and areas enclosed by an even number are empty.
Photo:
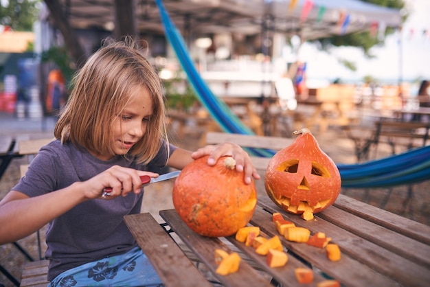
M235 170L232 157L215 165L207 156L185 166L174 182L173 205L190 229L202 236L231 236L245 227L257 204L256 186Z

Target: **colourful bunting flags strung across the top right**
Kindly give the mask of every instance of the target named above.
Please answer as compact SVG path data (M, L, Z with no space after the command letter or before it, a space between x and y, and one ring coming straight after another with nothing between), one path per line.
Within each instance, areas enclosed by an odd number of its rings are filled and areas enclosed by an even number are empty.
M288 13L292 12L296 8L298 2L299 2L298 0L291 0L290 1L290 3L288 4ZM305 0L304 1L303 5L302 5L302 11L300 13L299 23L304 23L306 21L310 11L313 8L318 9L316 22L321 23L327 9L324 6L315 5L313 0ZM340 35L343 35L346 33L348 25L350 25L350 23L351 23L351 18L352 18L352 16L350 13L343 12L343 11L339 12L339 20L337 21L337 28L338 28ZM370 34L372 36L378 38L379 40L383 40L383 38L385 37L386 28L387 28L387 25L383 21L374 21L370 24ZM398 28L399 32L401 32L401 30L402 30L401 27ZM423 29L421 32L418 32L416 29L411 28L407 34L407 37L409 39L411 39L411 38L416 37L417 35L419 36L419 34L421 34L421 36L423 38L426 38L426 39L429 38L430 39L430 30L426 29L426 28Z

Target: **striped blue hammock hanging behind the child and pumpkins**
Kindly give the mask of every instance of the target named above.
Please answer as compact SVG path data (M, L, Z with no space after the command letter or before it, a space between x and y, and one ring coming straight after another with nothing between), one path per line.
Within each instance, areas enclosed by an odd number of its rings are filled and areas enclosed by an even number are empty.
M253 135L229 107L209 89L205 81L199 75L194 62L188 54L188 49L183 38L170 16L162 0L156 0L163 22L166 37L172 45L179 62L201 104L207 108L214 121L226 133L238 133ZM259 148L247 149L249 154L256 157L273 157L274 150ZM375 161L357 163L352 165L337 165L342 179L342 187L391 187L418 183L430 179L430 146L409 150L403 154L392 155Z

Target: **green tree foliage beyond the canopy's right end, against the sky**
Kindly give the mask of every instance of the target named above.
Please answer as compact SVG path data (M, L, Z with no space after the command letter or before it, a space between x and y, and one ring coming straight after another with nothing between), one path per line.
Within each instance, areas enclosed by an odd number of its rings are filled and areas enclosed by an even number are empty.
M376 5L381 5L387 8L396 8L396 9L402 9L405 7L405 1L404 0L361 0L363 2L367 3L373 3ZM405 20L406 16L404 17ZM385 36L394 33L394 29L391 27L387 27L385 30ZM316 40L316 42L319 42L323 49L329 49L332 46L340 47L340 46L352 46L352 47L360 47L363 49L363 52L366 56L372 57L372 54L370 54L370 48L374 47L375 45L383 45L384 44L384 38L378 38L370 31L365 32L357 32L352 34L346 34L346 35L335 35L330 36L328 38L321 38Z

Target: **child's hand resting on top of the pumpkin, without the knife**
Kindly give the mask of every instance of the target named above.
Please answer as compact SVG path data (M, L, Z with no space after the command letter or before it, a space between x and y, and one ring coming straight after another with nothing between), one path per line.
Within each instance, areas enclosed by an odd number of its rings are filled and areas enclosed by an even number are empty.
M199 159L205 155L209 155L209 159L207 159L208 165L215 165L216 161L225 155L233 157L236 161L236 170L238 172L245 171L245 183L247 184L251 183L251 176L254 179L260 179L260 174L258 174L256 168L254 168L248 153L236 143L221 143L216 146L205 146L193 152L191 157L193 159Z

